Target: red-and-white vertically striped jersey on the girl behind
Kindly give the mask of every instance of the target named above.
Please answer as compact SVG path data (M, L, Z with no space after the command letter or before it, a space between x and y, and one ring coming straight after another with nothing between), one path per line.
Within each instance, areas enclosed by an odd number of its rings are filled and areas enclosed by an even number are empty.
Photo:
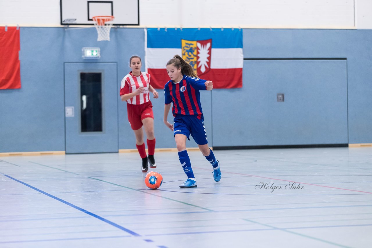
M127 74L123 80L121 80L120 96L136 91L140 87L145 88L145 92L131 99L126 100L130 104L143 104L150 101L148 86L150 84L150 74L141 72L138 77L132 75L132 72Z

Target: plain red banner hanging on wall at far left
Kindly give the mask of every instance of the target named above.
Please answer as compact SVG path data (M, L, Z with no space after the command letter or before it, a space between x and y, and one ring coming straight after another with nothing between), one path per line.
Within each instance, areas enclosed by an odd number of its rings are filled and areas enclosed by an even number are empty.
M0 90L21 87L19 29L0 27Z

